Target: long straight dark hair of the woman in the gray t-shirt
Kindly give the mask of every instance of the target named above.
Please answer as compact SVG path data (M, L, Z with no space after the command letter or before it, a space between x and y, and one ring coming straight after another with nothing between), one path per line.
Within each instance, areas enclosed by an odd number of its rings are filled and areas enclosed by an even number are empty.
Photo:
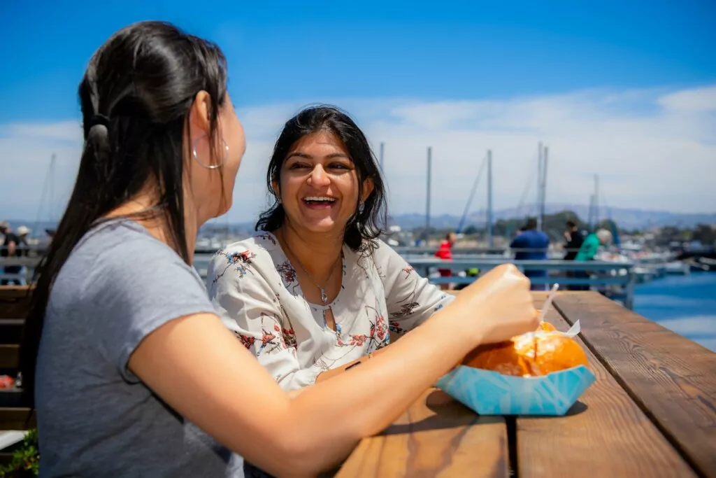
M160 21L121 29L89 60L79 83L84 149L77 179L57 236L36 269L37 286L20 348L24 400L33 401L37 352L52 284L72 249L87 231L105 221L105 215L135 197L148 182L155 183L157 204L130 219L162 221L173 247L189 262L182 182L187 118L197 93L208 92L209 140L215 144L226 80L226 58L216 44ZM216 157L212 150L211 159Z

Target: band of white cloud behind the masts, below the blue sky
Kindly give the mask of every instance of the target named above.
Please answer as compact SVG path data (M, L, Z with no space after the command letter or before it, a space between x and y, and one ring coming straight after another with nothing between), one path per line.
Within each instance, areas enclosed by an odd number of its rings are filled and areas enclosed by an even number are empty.
M586 204L593 175L609 206L716 211L716 86L692 90L583 90L503 100L332 100L349 111L377 152L395 213L422 212L432 146L432 211L460 214L488 148L496 209L516 206L536 181L536 149L549 147L548 202ZM248 138L231 221L253 219L266 198L265 168L284 122L304 102L238 109ZM79 123L0 125L0 216L32 218L49 157L55 196L66 200L81 148ZM473 210L485 205L485 178ZM533 201L532 186L528 202ZM59 206L57 206L59 207Z

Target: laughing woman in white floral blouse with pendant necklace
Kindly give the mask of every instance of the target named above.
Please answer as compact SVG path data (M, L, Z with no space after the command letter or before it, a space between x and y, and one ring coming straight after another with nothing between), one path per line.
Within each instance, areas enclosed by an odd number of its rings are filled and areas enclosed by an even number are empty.
M386 217L367 139L334 107L286 123L258 234L218 251L208 290L223 321L285 390L370 356L453 300L377 239ZM324 375L325 376L325 375ZM321 377L323 378L323 377Z

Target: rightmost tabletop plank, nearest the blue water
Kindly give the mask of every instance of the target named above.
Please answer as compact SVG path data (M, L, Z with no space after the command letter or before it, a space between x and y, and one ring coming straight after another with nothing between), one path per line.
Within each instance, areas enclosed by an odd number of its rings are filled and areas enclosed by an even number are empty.
M716 477L716 353L594 292L555 305L698 474Z

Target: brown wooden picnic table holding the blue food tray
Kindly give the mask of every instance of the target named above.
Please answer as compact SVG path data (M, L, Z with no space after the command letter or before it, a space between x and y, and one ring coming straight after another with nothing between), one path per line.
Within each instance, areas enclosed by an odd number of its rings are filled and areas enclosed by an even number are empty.
M716 353L596 292L554 306L596 376L566 416L478 416L432 388L335 476L716 478Z

